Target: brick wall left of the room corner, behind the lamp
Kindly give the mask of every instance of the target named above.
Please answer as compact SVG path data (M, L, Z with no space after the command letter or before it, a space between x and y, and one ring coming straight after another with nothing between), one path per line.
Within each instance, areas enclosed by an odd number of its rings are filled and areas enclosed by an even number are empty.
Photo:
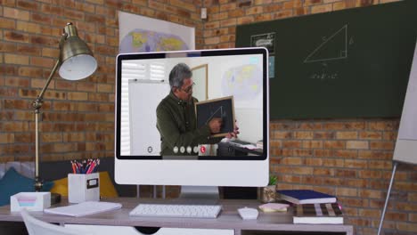
M0 0L0 161L30 160L35 151L32 101L58 57L62 28L73 22L99 68L77 82L54 76L41 109L42 160L113 156L115 55L118 11L194 26L192 1Z

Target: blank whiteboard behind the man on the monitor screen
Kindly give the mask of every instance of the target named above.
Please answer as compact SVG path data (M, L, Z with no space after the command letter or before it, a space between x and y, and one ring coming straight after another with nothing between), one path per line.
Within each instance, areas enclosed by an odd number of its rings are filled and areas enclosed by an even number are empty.
M160 134L156 108L169 93L169 84L151 80L129 81L130 152L159 156Z

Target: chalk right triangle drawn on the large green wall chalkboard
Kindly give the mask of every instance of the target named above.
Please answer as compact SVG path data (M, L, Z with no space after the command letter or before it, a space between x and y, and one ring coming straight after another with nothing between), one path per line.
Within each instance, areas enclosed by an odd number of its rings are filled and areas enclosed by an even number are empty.
M335 61L347 58L347 25L323 38L323 43L310 53L305 63Z

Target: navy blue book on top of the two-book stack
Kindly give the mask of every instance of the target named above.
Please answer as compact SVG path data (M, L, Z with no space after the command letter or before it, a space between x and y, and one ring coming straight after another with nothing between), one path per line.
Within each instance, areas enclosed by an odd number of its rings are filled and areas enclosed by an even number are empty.
M315 190L277 190L280 199L294 204L335 203L336 197Z

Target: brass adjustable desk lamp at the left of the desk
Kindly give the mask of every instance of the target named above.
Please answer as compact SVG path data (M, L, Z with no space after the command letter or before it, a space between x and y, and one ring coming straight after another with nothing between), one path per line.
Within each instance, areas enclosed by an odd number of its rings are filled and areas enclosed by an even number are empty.
M39 109L42 107L43 98L49 83L53 78L56 69L59 74L67 80L79 80L92 75L97 69L97 61L88 46L78 37L77 28L72 23L67 23L63 28L60 40L60 57L53 66L53 70L46 80L46 84L37 99L33 101L32 107L35 109L35 191L42 190L43 182L39 178Z

